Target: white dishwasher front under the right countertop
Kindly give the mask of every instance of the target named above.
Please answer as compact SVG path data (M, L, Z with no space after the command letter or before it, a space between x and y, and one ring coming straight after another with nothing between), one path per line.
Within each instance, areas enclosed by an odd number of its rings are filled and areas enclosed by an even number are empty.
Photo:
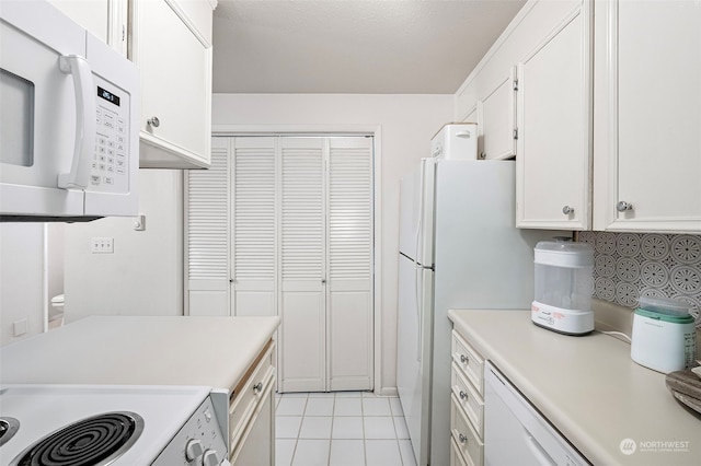
M589 464L489 361L484 381L485 466Z

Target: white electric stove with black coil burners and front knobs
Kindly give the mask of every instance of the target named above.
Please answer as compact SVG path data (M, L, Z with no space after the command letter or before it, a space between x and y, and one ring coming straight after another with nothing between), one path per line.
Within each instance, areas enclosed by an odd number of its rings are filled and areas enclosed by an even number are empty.
M230 466L209 391L0 386L0 464Z

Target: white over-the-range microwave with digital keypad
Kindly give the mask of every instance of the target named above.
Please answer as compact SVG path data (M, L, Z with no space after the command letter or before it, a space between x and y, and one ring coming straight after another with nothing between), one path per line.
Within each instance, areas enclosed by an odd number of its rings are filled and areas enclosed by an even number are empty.
M137 215L136 66L44 0L0 1L0 221Z

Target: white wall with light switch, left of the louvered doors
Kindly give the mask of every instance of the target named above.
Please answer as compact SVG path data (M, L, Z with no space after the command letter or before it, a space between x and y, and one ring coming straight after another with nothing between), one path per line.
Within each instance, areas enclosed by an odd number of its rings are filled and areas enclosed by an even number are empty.
M91 314L183 314L183 175L139 171L139 212L65 229L66 322ZM92 254L92 237L113 237L114 254Z

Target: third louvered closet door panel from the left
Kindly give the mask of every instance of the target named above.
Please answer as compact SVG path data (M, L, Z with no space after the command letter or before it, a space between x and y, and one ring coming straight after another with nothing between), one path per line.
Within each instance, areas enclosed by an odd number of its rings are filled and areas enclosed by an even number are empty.
M280 139L281 392L326 389L323 144Z

